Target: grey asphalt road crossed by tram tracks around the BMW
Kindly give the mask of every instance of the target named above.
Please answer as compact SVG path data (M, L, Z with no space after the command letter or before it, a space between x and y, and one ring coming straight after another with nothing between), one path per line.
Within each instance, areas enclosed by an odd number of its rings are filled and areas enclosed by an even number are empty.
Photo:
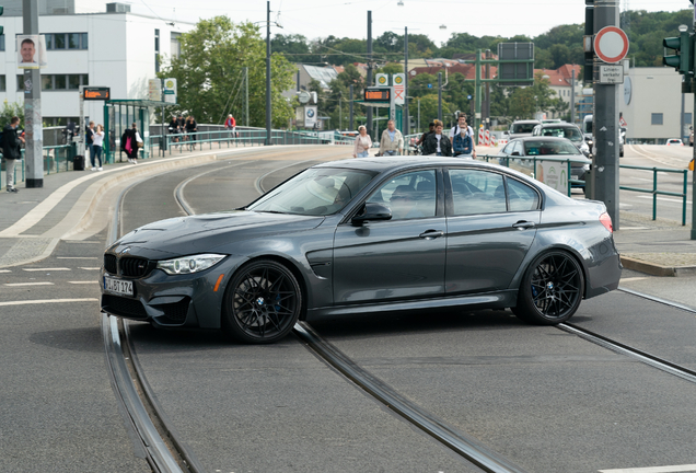
M348 154L269 150L149 178L125 195L123 231L183 215L174 191L184 183L196 212L229 209L313 162ZM51 258L0 275L0 471L149 471L105 371L95 280L105 239L62 242ZM28 300L54 302L14 304ZM696 368L691 313L614 292L584 301L572 322ZM696 471L677 468L696 464L696 387L558 328L525 325L508 311L313 326L529 472ZM478 471L293 336L244 346L214 332L130 330L158 400L209 472Z

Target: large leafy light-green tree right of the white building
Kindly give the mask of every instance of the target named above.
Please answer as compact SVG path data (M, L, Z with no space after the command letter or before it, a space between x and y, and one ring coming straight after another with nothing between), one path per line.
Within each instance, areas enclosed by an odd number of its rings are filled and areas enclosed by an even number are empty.
M242 78L248 67L250 125L266 123L266 44L258 26L234 24L228 16L201 20L181 36L182 53L165 64L160 78L176 78L179 106L198 123L222 123L228 113L242 116ZM280 93L292 86L293 67L282 55L271 56L272 125L287 126L294 115Z

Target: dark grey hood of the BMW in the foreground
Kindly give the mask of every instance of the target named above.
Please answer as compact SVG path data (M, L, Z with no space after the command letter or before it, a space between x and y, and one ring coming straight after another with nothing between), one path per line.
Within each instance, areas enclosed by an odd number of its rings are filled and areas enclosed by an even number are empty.
M233 210L177 217L140 227L107 251L149 259L214 252L218 246L270 234L294 233L318 227L324 217Z

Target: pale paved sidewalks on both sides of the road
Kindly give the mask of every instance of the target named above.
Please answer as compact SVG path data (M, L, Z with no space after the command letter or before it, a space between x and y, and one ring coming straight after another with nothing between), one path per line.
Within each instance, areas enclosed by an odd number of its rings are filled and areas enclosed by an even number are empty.
M278 148L278 147L274 147ZM229 159L264 147L199 151L150 158L137 165L116 163L102 172L69 171L44 177L44 187L0 193L0 268L40 261L59 240L89 240L105 229L121 188L148 175ZM691 228L671 220L623 211L614 233L626 269L653 276L696 274L696 241Z

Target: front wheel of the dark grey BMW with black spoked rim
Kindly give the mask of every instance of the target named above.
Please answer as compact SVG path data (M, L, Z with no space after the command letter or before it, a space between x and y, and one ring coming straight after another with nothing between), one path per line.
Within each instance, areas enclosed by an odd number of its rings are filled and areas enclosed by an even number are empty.
M278 342L302 311L302 290L280 263L259 259L232 277L224 296L222 331L247 344Z

